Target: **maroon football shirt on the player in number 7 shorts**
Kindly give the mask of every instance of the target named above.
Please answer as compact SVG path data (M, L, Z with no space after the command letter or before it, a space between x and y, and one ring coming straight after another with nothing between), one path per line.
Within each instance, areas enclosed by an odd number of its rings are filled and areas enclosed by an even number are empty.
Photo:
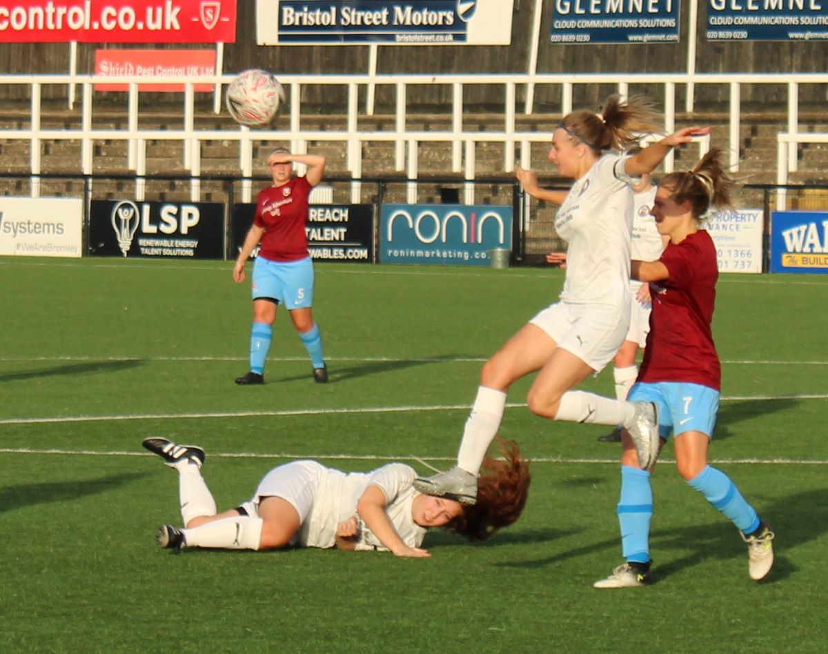
M719 391L721 369L710 325L716 248L704 229L669 243L659 259L670 273L651 284L652 314L639 382L688 382Z

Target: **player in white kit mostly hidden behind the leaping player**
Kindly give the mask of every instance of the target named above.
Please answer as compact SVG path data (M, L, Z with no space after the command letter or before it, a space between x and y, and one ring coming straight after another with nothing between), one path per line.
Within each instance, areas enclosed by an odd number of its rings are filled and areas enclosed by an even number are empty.
M628 151L634 154L640 148ZM656 186L652 184L649 175L641 176L641 181L633 185L633 233L630 242L630 251L636 261L657 261L667 246L667 239L658 233L656 221L650 214L652 201L656 197ZM627 337L624 339L618 353L613 359L613 377L615 382L615 397L626 400L629 389L633 387L638 377L638 366L635 358L638 349L644 348L647 334L650 331L650 286L641 281L629 281L630 316ZM607 435L599 436L602 442L621 442L621 428L618 427Z

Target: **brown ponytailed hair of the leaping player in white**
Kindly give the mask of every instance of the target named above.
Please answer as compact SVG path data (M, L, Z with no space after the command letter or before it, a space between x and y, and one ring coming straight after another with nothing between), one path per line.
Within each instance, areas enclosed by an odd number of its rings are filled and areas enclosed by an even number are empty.
M598 113L567 113L558 127L596 152L622 151L640 141L642 132L662 131L659 115L649 100L633 96L622 101L619 94L604 100L604 106Z

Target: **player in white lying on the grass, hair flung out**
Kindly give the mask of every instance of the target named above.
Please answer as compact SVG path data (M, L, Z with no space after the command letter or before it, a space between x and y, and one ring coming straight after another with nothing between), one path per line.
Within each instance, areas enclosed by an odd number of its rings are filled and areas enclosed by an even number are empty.
M421 548L429 527L446 527L483 541L517 520L526 503L529 464L514 441L501 440L504 459L487 457L478 502L465 507L413 487L414 469L388 464L371 473L344 473L316 461L294 461L268 472L249 502L216 512L201 466L205 451L148 438L143 446L179 474L185 528L162 525L161 547L274 550L286 546L392 551L429 556Z

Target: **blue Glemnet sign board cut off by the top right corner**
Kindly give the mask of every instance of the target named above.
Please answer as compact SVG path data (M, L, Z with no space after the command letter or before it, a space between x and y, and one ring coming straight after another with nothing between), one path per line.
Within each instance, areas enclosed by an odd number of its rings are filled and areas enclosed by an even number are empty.
M826 0L707 0L708 41L828 41Z

